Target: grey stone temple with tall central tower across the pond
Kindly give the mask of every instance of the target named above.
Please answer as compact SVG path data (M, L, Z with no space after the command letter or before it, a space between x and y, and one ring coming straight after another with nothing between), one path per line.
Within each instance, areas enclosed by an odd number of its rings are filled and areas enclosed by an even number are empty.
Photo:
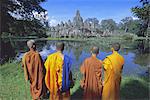
M68 20L57 26L50 26L47 35L50 37L99 37L109 34L100 30L99 21L96 18L88 18L84 21L80 11L77 10L72 22Z

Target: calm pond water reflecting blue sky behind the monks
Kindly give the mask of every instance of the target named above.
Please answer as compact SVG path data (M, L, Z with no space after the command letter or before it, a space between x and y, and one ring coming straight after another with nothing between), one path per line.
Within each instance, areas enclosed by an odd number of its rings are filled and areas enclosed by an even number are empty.
M47 56L53 52L55 52L55 45L57 41L37 41L37 50L40 52L43 61L47 58ZM65 43L65 50L64 54L67 54L71 57L73 65L72 68L79 70L80 65L87 57L90 57L90 48L91 44L86 42L73 42L73 41L64 41ZM140 41L141 43L141 41ZM143 43L143 42L142 42ZM149 59L150 54L147 51L146 44L141 46L136 42L132 43L132 49L125 49L122 48L119 52L125 59L125 64L123 68L123 75L145 75L148 73L149 70ZM139 46L140 45L140 46ZM5 49L4 53L2 53L3 60L6 61L7 58L14 58L17 61L20 61L23 54L28 51L26 46L26 40L5 40L3 41L3 49ZM106 56L111 54L110 47L106 46L101 47L100 53L98 55L98 59L104 60ZM146 45L147 46L147 45ZM142 47L142 48L139 48ZM144 49L143 49L144 48ZM149 48L148 48L149 49ZM145 50L145 51L144 51ZM145 56L144 56L145 55ZM142 57L144 56L144 57ZM1 57L1 59L2 59ZM140 59L142 58L142 59ZM145 61L146 60L146 61Z

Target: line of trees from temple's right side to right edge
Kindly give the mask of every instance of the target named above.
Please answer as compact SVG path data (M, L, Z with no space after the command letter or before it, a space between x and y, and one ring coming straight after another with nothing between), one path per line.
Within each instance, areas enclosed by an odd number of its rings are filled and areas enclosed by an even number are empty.
M136 19L125 17L119 23L113 19L102 20L100 23L101 30L122 30L124 32L134 33L138 36L150 36L150 2L149 0L140 0L140 6L131 8ZM97 23L97 20L95 20Z

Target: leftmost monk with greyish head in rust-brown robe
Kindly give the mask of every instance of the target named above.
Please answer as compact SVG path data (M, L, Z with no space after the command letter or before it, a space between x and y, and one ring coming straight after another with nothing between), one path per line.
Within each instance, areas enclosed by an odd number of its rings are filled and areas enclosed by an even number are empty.
M30 81L30 92L33 100L39 100L45 94L44 64L36 51L34 40L27 41L29 51L22 58L25 80Z

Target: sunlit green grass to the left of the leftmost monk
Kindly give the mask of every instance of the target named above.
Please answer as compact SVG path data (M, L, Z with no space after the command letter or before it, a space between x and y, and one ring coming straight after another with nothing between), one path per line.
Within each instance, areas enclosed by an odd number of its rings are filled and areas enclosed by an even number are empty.
M0 100L30 100L29 83L24 80L23 69L18 63L0 66Z

